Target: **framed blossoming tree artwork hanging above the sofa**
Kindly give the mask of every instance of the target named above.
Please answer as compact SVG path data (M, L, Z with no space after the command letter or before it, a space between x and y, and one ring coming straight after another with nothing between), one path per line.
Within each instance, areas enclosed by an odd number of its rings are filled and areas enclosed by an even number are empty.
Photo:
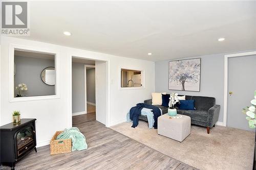
M200 91L201 58L169 62L169 90Z

